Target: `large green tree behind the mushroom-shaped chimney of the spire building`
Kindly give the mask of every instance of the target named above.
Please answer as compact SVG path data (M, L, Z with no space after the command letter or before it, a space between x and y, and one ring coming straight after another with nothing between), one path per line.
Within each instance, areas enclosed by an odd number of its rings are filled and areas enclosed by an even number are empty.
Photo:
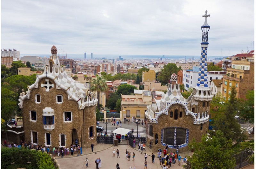
M167 84L173 73L177 75L180 68L175 63L168 63L164 65L164 69L158 73L157 80L161 83Z

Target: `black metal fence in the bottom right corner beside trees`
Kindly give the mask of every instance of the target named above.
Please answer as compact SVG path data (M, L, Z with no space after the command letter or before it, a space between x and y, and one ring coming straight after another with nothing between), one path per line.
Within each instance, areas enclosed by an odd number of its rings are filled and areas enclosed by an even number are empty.
M252 153L252 150L244 150L238 154L233 155L236 160L236 166L234 167L234 169L242 168L243 166L249 164L249 160L247 158Z

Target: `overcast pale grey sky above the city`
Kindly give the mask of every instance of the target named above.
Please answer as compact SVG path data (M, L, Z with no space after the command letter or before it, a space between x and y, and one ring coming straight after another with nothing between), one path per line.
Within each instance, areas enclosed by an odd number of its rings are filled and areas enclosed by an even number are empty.
M202 15L208 55L251 50L253 0L2 0L3 49L50 54L200 55Z

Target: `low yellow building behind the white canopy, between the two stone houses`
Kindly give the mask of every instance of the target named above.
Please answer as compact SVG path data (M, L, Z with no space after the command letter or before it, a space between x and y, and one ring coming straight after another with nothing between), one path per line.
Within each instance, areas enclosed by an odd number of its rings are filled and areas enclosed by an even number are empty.
M120 118L136 118L145 119L147 106L152 104L152 96L150 91L134 90L135 95L121 95L121 110L123 117ZM121 113L121 112L120 112Z

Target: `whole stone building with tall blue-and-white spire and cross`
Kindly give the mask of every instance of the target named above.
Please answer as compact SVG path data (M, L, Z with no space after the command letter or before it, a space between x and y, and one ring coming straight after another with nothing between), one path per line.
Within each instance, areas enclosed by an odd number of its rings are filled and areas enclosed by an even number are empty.
M171 76L171 84L162 98L156 100L156 104L147 106L145 116L147 119L147 140L152 140L152 151L168 145L174 149L179 146L181 151L188 150L188 143L193 138L201 141L202 135L208 131L210 102L212 92L207 80L207 47L208 31L205 12L205 22L201 26L203 31L201 43L201 58L196 87L188 99L180 93L180 84L177 83L176 74ZM147 142L148 145L149 141ZM174 150L173 150L174 151Z

